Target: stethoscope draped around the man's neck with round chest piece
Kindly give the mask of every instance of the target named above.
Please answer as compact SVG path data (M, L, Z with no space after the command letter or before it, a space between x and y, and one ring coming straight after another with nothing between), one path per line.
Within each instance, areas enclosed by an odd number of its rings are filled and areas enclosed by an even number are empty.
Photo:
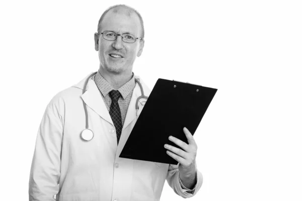
M89 79L94 76L95 74L97 74L97 72L94 72L92 73L85 81L85 84L84 84L84 88L83 88L83 92L82 93L85 93L86 91L86 86L87 86L87 83L89 81ZM139 82L139 80L137 78L134 78L135 82L138 83L139 85L139 88L140 88L140 92L141 92L141 96L137 97L136 99L136 104L135 104L135 110L136 110L136 118L137 118L137 112L138 112L138 101L139 99L141 98L145 98L146 100L148 99L148 96L145 96L144 93L143 93L143 88L141 86L141 83ZM145 100L145 101L146 101ZM145 103L145 102L144 102ZM83 105L84 105L84 111L85 111L85 117L86 117L86 129L84 129L81 133L81 138L82 140L84 141L90 141L93 139L94 137L94 134L93 134L93 131L89 129L89 125L88 125L88 113L87 113L87 107L86 107L86 104L83 100Z

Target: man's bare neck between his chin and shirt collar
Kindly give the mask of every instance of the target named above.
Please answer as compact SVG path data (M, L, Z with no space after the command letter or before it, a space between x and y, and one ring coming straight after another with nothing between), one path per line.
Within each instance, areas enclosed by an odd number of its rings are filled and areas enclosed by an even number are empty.
M99 69L101 75L106 79L106 81L114 88L118 89L125 83L127 83L131 77L132 72L124 72L121 74L118 73L111 73L106 70L103 70L102 68Z

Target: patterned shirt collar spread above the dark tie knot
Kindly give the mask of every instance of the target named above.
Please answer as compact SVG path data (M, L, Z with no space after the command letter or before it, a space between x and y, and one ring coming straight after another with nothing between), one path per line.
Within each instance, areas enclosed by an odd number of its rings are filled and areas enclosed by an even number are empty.
M94 81L96 82L99 90L101 91L102 95L105 97L110 91L115 90L107 80L101 75L100 71L94 77ZM134 80L134 73L132 72L131 79L126 82L124 85L119 87L117 90L121 93L122 97L125 99L128 94L134 89L135 87L135 80Z

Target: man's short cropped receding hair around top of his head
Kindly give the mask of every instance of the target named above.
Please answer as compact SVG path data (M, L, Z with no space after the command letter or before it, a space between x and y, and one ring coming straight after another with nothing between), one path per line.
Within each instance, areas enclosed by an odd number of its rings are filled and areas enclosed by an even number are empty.
M141 25L141 38L144 38L144 27L143 27L143 21L142 21L142 17L141 15L138 13L138 11L136 11L135 9L124 5L124 4L119 4L119 5L114 5L112 7L109 7L101 16L99 23L98 23L98 32L100 32L101 30L101 23L104 20L105 15L109 12L112 11L113 13L121 13L121 14L125 14L126 16L130 17L132 13L135 13L140 21L140 25Z

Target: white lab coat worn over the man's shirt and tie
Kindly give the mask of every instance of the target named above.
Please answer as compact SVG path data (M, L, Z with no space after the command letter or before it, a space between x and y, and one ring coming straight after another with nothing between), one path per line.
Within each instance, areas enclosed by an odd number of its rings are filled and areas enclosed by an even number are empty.
M36 139L29 200L53 201L55 194L60 201L160 200L165 179L180 196L193 196L181 188L178 166L119 158L137 119L139 85L133 90L117 146L113 122L92 79L82 94L88 76L56 94L46 108ZM148 96L150 90L140 82ZM80 137L86 124L82 99L94 132L88 142ZM142 108L140 104L138 114ZM194 194L201 184L202 176L197 172Z

